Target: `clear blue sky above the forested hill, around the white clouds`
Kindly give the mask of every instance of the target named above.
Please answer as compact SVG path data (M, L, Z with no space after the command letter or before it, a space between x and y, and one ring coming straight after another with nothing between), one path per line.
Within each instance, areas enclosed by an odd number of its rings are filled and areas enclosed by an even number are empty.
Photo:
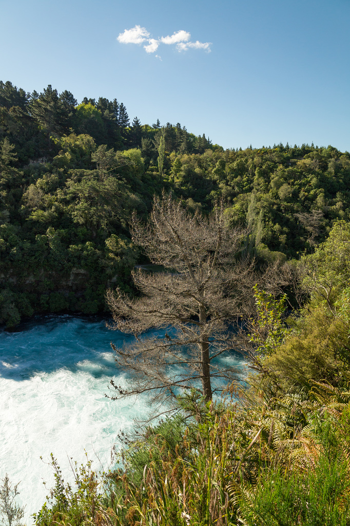
M349 0L0 0L0 17L0 79L27 91L117 98L224 148L350 150ZM135 26L143 42L117 40ZM179 31L210 45L161 41Z

